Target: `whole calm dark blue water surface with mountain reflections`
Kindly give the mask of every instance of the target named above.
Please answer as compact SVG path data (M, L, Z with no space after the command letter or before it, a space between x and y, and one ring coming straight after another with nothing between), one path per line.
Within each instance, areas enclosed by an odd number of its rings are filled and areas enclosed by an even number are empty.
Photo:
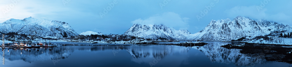
M89 44L68 43L62 44ZM228 43L206 42L201 47L111 44L127 46L60 46L5 49L0 67L289 67L291 64L246 57ZM108 45L108 44L94 44ZM129 46L130 45L130 46ZM2 54L3 52L1 52Z

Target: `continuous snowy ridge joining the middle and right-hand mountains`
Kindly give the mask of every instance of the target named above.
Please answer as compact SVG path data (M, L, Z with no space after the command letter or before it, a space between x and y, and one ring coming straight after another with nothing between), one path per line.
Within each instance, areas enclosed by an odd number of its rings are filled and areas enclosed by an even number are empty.
M289 27L288 25L285 26L277 22L251 20L248 17L237 16L233 20L228 18L217 21L211 20L204 30L195 34L190 34L187 30L175 30L164 25L156 24L134 24L124 34L145 39L166 38L170 40L230 41L242 37L251 39L256 36L265 36L279 29Z

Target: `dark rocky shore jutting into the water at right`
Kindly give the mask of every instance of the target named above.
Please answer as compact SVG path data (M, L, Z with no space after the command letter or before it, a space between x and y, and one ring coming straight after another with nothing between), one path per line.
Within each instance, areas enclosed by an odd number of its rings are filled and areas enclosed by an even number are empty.
M227 49L240 49L240 53L249 57L292 64L292 45L246 43L227 44L220 47Z

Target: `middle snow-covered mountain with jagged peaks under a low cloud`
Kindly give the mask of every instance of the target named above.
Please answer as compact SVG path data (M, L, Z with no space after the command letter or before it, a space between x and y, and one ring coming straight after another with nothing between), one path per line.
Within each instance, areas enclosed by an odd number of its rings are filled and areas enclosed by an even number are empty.
M169 40L189 40L188 37L191 33L187 30L175 30L162 24L134 24L124 34L129 36L138 36L145 39L166 38Z

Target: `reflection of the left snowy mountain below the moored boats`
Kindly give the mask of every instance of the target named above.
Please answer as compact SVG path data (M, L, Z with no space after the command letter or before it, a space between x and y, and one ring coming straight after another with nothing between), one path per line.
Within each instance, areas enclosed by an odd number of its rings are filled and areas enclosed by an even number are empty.
M23 60L29 63L34 61L65 59L74 52L70 48L6 48L5 58L10 61Z

